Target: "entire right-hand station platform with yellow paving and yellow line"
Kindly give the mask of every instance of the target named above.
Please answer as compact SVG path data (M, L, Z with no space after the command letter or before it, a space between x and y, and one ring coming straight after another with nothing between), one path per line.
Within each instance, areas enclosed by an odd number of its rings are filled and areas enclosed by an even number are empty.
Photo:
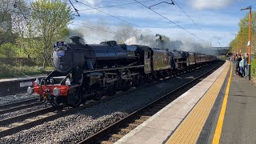
M255 103L256 87L226 61L115 143L256 143Z

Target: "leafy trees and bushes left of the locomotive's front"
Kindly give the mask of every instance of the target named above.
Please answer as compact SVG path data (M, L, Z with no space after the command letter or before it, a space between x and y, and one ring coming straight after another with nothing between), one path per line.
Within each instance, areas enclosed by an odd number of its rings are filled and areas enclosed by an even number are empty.
M44 74L54 42L69 34L71 13L66 0L1 0L0 58L29 58L36 65L0 62L0 78Z

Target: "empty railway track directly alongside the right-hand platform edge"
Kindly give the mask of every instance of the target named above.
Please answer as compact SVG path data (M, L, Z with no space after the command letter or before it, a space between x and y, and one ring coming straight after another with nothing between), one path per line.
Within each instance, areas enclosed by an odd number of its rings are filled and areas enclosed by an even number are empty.
M203 78L206 78L208 74L211 74L211 72L216 70L219 66L221 66L221 64L219 64L218 66L214 66L213 69L207 71L206 73L200 75L197 78L194 78L192 81L186 83L185 85L180 86L177 89L171 91L170 93L163 95L161 98L158 98L154 102L143 106L141 109L134 111L125 118L122 118L118 122L114 122L112 125L106 127L101 131L98 131L98 133L91 135L89 138L83 139L79 143L110 144L117 142L118 139L128 134L131 130L134 130L137 126L142 124L142 122L145 122L148 118L156 114L159 110L162 110L162 108L167 106L170 102L173 102L174 99L184 94L187 90L190 90L190 88L195 86L198 82L201 82Z

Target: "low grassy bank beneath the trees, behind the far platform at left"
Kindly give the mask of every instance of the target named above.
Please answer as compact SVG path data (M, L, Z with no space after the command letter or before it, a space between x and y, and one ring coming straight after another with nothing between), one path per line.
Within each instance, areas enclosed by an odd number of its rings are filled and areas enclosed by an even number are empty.
M53 70L46 67L46 70ZM11 66L0 62L0 78L15 78L29 75L46 74L40 66Z

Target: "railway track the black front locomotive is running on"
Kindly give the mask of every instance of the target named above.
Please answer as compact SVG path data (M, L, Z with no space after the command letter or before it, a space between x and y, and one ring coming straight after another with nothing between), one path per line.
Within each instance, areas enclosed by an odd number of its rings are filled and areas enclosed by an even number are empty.
M0 138L17 133L21 130L29 129L33 126L38 126L43 122L49 122L68 114L74 114L78 110L84 110L90 106L98 105L99 103L106 102L112 98L114 97L103 97L99 101L88 101L81 106L71 109L65 107L63 110L56 110L50 106L42 110L35 110L30 113L0 120Z

